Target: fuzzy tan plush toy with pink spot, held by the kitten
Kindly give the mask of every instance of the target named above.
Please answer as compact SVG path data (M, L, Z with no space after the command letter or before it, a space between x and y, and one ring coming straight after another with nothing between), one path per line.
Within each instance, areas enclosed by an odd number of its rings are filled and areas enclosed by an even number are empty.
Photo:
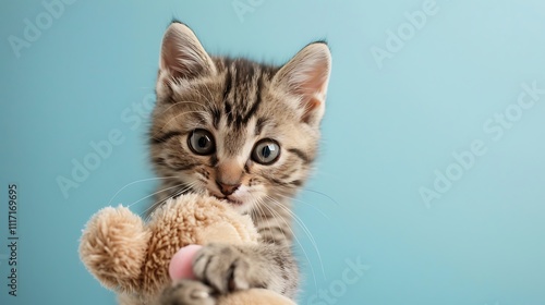
M106 288L118 292L120 304L160 304L161 292L178 279L193 277L198 246L211 242L257 243L249 216L226 203L184 195L156 209L146 223L125 207L107 207L87 222L80 257ZM295 304L264 289L222 295L218 305Z

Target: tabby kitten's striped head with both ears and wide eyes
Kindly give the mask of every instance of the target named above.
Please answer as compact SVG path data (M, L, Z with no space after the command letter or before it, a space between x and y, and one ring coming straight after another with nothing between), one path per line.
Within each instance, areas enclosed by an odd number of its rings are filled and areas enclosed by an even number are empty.
M293 196L316 157L330 68L323 42L283 66L210 57L172 23L150 131L156 170L180 185L170 194L210 194L241 212Z

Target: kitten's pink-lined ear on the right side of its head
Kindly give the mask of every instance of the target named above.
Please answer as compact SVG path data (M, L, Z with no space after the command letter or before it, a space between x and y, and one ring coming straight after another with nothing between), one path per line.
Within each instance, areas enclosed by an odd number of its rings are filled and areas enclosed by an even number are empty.
M331 71L331 53L325 42L314 42L299 51L272 81L300 98L302 121L319 124L325 111L327 84Z

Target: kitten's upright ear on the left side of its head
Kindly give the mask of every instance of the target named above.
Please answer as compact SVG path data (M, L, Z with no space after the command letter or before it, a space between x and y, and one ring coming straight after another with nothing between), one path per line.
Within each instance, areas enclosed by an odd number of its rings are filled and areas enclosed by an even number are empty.
M162 37L159 72L167 78L195 78L215 72L215 65L186 25L173 22Z

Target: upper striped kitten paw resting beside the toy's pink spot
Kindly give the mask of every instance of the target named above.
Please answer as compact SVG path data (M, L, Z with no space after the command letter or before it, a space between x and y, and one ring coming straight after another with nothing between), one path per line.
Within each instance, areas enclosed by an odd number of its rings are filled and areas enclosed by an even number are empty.
M195 256L193 272L218 292L266 288L267 273L261 261L233 245L209 244Z

